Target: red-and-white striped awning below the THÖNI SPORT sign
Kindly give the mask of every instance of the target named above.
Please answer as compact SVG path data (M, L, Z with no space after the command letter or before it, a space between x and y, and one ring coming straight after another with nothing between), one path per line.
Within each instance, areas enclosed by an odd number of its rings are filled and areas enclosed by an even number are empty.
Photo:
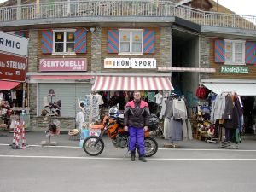
M167 77L97 76L92 91L174 90Z

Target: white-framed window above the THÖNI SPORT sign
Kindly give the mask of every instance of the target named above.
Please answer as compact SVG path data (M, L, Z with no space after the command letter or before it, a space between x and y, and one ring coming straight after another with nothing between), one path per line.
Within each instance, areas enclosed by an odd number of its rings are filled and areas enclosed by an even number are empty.
M143 30L119 30L119 54L143 54Z

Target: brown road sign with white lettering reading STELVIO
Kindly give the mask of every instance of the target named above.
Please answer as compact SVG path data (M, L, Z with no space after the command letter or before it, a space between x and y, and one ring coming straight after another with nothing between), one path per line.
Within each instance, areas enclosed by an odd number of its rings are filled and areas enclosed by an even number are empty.
M0 79L25 82L26 57L0 53Z

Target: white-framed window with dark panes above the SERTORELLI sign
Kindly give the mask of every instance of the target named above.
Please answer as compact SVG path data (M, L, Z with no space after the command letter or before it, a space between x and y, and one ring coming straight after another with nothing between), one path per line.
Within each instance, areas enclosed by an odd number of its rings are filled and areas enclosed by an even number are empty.
M74 33L75 31L54 31L55 54L74 54Z

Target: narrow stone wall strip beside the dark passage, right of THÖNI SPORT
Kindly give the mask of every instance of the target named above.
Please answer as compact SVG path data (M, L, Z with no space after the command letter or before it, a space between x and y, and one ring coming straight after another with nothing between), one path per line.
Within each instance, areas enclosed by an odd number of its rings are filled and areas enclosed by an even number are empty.
M161 27L160 29L160 66L172 67L172 29Z

